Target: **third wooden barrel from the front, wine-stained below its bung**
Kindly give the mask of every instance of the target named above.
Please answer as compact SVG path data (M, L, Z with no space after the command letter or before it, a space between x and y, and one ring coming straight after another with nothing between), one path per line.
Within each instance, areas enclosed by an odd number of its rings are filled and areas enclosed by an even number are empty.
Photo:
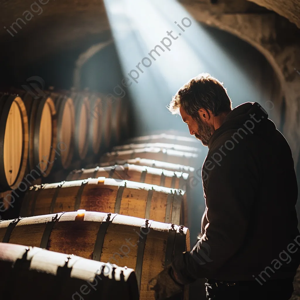
M30 187L20 216L78 209L113 211L178 225L187 222L184 190L104 177Z

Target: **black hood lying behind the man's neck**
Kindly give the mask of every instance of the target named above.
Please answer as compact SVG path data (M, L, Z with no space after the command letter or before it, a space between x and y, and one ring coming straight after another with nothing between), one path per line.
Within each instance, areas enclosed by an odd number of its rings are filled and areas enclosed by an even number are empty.
M275 124L268 119L268 113L257 102L246 102L235 107L224 119L223 124L212 134L208 149L226 131L243 129L251 134L265 135L276 130Z

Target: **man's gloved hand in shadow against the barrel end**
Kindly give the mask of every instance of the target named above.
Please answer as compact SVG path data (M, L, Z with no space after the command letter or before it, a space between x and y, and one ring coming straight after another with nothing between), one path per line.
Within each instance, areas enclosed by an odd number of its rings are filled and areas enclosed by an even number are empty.
M177 283L176 278L172 266L168 265L149 281L150 289L155 291L155 300L164 300L182 292L184 285Z

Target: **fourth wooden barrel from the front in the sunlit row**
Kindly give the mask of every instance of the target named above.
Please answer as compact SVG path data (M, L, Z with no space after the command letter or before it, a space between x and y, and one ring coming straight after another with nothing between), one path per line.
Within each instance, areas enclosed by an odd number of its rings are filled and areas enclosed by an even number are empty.
M164 187L184 189L183 186L187 183L189 174L146 166L123 164L110 167L73 170L67 176L67 181L98 177L125 179Z

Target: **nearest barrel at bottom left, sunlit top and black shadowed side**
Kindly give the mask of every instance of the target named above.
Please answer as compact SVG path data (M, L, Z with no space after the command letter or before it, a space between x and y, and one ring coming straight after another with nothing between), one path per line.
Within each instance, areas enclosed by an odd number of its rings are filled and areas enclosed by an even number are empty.
M133 269L38 247L0 243L0 269L5 300L139 299Z

